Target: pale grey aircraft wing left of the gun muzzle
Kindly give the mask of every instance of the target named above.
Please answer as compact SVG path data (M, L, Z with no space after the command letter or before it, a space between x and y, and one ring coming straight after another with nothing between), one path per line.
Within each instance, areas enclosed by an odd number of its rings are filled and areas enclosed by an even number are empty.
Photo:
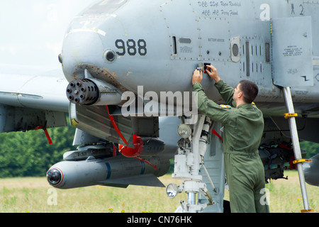
M62 70L1 65L0 132L66 126Z

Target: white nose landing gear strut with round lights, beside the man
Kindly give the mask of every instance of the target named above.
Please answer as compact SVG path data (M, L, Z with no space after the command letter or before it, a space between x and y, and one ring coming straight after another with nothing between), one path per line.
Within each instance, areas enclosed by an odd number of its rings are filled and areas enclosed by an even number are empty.
M178 142L177 155L174 157L174 173L173 179L181 179L183 182L177 187L174 184L167 186L167 195L174 197L179 192L186 192L187 201L181 201L181 206L177 209L177 212L201 212L208 206L214 206L218 204L219 207L223 207L223 192L224 189L224 168L223 168L223 150L220 146L221 142L211 143L211 130L214 126L213 121L206 116L198 116L198 121L190 123L187 119L183 119L184 123L179 125L177 133L181 137ZM215 136L216 137L216 136ZM220 140L218 137L216 137ZM210 144L211 143L211 144ZM221 155L212 155L212 150L219 144L219 152ZM206 154L206 150L210 150ZM204 165L204 160L216 159L218 167L218 187L216 187L211 179L211 170L207 170ZM205 158L204 158L205 157ZM220 158L221 157L221 158ZM216 165L213 164L213 165ZM211 163L209 164L211 167ZM203 180L205 178L205 180ZM215 181L216 179L214 179ZM208 189L209 188L209 189ZM213 195L213 196L212 196ZM196 201L196 196L198 197ZM221 204L220 204L221 196ZM216 202L216 199L218 202ZM214 207L216 208L216 206ZM217 211L218 209L216 209ZM220 211L220 209L219 209ZM221 208L223 212L223 208Z

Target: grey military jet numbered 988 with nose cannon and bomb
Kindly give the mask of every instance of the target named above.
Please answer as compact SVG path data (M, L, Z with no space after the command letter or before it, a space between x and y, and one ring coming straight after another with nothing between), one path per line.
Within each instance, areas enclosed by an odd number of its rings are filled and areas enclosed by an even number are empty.
M69 113L79 147L47 171L53 187L162 187L174 158L182 183L167 194L187 193L177 211L223 212L223 126L197 113L191 87L196 68L214 65L233 87L258 84L265 180L297 167L309 211L319 157L303 159L299 140L319 143L318 11L304 0L96 1L65 33L64 75L1 74L1 132L65 126ZM207 75L202 84L224 104Z

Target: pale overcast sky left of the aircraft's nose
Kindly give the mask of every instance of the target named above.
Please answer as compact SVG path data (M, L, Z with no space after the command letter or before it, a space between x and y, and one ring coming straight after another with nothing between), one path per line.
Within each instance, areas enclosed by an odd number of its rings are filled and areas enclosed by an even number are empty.
M97 0L0 0L0 64L60 67L70 21Z

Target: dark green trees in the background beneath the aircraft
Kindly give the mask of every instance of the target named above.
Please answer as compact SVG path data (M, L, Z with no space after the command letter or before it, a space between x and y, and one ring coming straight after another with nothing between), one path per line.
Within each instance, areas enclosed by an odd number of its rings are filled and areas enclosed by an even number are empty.
M52 145L47 143L43 130L0 133L0 178L4 177L43 177L47 170L63 160L63 153L76 150L72 146L75 128L49 128ZM301 143L307 151L306 158L319 153L319 143ZM173 171L174 161L170 172Z

